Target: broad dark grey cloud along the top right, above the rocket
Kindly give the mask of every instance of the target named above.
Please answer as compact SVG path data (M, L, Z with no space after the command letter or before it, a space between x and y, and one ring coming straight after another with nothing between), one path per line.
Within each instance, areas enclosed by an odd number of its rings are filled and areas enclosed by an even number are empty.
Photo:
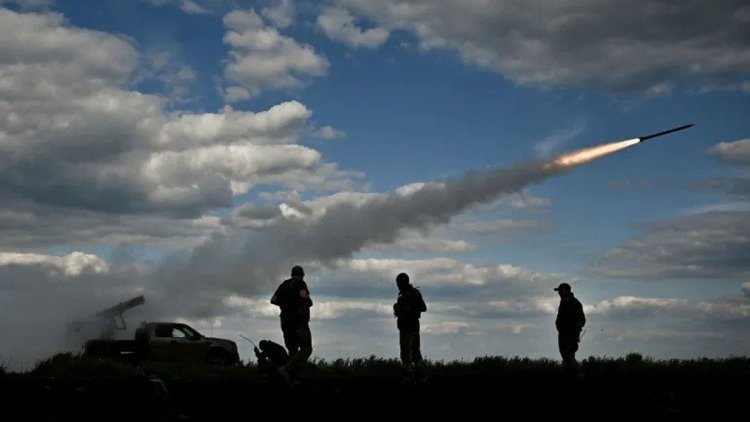
M582 86L663 95L675 86L734 86L750 65L743 0L370 1L338 8L412 32L422 50L449 49L469 64L535 86ZM637 28L637 30L634 30Z

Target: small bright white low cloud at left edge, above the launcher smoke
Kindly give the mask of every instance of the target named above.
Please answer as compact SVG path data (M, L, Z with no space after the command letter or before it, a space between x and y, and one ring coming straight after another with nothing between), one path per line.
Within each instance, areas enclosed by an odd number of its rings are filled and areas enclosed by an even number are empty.
M65 277L77 277L83 274L104 274L109 271L107 263L96 255L83 252L72 252L64 256L42 255L35 253L2 253L0 267L39 266L52 273Z

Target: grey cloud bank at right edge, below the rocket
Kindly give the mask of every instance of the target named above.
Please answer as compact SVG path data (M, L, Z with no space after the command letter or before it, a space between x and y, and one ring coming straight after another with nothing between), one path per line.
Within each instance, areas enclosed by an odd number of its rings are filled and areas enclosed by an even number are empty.
M711 211L647 226L606 252L594 270L635 279L743 279L750 275L750 212Z

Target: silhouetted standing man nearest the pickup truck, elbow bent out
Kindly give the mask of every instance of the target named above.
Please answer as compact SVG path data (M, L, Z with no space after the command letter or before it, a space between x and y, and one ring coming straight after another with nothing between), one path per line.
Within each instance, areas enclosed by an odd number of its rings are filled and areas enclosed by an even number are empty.
M289 351L289 363L282 366L279 373L290 383L312 355L312 299L304 280L305 271L299 265L295 265L291 275L291 278L279 285L271 298L271 303L281 308L281 332L284 334L284 346Z

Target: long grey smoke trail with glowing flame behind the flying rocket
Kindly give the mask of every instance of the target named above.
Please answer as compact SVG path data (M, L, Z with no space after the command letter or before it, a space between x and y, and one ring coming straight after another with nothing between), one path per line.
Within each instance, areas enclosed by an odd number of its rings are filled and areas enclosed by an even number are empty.
M173 280L167 283L174 289L169 292L171 297L184 294L186 287L192 285L204 295L214 296L215 303L222 293L267 292L294 264L333 266L368 245L396 241L404 230L429 230L472 206L541 183L636 143L637 138L551 160L469 171L454 179L410 185L391 193L339 193L281 204L271 214L264 208L268 224L245 232L240 238L229 236L204 245L196 250L188 265L177 272L170 269L170 276L162 274L161 279ZM240 207L232 223L241 225L242 214ZM226 271L217 274L217 269ZM204 300L203 304L207 302ZM194 309L195 305L184 303L181 307ZM206 311L203 308L201 313Z

